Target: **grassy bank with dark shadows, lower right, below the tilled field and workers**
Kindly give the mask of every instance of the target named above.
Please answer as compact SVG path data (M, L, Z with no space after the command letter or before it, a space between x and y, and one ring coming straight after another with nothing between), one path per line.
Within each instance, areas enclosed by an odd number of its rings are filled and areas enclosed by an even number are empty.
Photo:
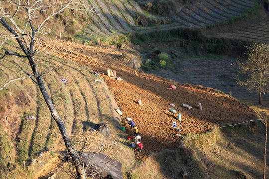
M250 176L252 179L261 179L263 178L265 128L251 132L248 131L246 125L242 126L226 131L220 130L221 138L217 139L216 144L214 141L210 144L208 141L214 139L208 137L206 140L209 145L204 149L199 146L200 143L203 145L203 141L193 139L196 143L194 147L188 147L188 144L185 145L183 142L176 145L170 143L167 146L175 146L173 150L163 148L162 152L153 153L149 157L155 159L161 174L169 179L182 179L184 173L187 174L184 179L236 179L240 177L240 171L248 178ZM143 138L147 137L142 136L142 142ZM162 145L157 138L155 140L156 143L159 142L159 145ZM190 140L190 138L187 137L184 140ZM145 147L142 153L147 154L148 144L146 142L143 144ZM155 164L152 163L152 165ZM267 170L269 170L268 166Z

